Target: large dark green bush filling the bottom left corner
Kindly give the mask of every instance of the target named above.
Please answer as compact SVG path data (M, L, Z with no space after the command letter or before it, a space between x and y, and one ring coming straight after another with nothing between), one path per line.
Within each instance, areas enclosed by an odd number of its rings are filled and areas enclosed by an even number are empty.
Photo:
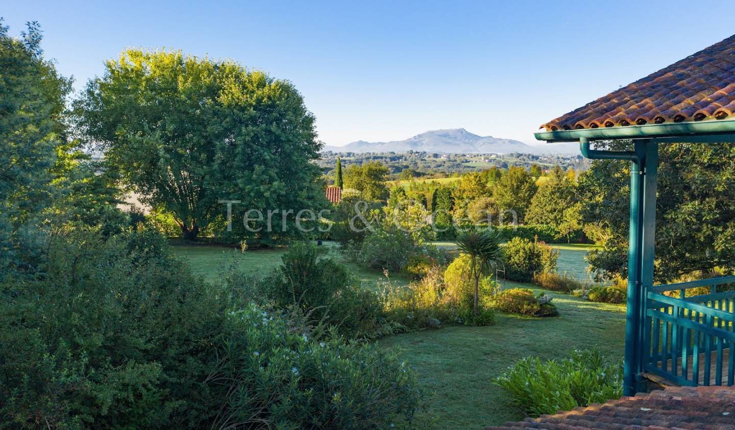
M0 292L0 426L196 426L223 304L147 231L51 237Z

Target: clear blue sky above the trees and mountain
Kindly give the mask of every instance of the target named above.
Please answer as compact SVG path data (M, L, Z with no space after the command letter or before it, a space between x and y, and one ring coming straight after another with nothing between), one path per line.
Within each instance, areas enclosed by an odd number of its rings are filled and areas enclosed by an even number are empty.
M227 57L289 79L320 140L464 127L536 143L539 124L735 32L735 2L6 1L40 21L76 88L128 46Z

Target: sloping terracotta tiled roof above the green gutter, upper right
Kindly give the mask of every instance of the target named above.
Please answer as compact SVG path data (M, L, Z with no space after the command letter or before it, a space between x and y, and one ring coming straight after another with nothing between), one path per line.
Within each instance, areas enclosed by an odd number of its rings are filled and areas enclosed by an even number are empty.
M541 127L570 129L735 116L735 35Z

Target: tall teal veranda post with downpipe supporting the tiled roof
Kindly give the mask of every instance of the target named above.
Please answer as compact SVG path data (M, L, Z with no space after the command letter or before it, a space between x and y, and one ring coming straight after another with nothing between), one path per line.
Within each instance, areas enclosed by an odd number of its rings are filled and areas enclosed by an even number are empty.
M656 184L659 144L656 140L634 140L631 157L631 210L628 236L628 301L625 315L625 366L623 395L645 390L644 349L645 290L653 285L656 239Z

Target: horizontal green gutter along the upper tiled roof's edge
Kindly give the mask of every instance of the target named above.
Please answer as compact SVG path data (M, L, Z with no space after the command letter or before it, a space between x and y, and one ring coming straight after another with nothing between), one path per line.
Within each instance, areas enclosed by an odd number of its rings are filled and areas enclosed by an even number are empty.
M537 140L548 142L578 142L587 140L642 139L650 137L678 137L678 142L689 141L687 136L735 134L735 120L645 124L642 126L600 127L597 129L559 130L534 133Z

